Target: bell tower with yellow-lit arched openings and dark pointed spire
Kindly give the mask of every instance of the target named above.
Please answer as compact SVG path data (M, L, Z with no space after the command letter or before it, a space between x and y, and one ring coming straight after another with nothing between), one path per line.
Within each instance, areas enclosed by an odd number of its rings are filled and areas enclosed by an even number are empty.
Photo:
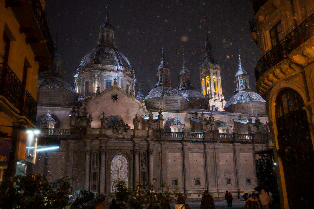
M221 88L221 70L220 66L215 63L212 45L208 41L208 33L206 33L204 51L205 56L200 67L202 94L209 103L208 108L215 106L218 107L219 110L223 110L226 101L224 100Z

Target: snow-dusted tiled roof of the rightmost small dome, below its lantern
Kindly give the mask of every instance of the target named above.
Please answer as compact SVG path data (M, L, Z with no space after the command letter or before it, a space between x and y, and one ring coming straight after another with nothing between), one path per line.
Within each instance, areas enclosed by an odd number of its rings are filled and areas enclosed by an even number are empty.
M266 101L259 94L253 91L239 91L235 95L231 96L231 98L225 104L225 107L229 107L230 105L244 102L266 102Z

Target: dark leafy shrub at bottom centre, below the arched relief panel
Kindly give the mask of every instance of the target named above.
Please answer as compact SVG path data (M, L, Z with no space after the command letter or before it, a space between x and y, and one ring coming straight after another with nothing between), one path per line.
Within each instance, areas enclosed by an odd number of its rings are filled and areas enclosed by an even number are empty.
M156 189L154 183L156 179L148 180L144 184L139 181L132 189L127 189L125 181L116 181L115 195L113 198L117 202L126 202L130 209L164 209L175 200L174 195L177 193L178 188L171 188L162 185L161 188ZM172 192L170 190L173 190ZM162 192L161 192L162 190Z

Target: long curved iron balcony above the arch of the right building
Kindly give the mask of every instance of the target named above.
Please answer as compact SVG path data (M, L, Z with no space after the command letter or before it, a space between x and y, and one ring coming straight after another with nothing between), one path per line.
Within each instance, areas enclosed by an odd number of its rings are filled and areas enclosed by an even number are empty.
M290 52L312 36L314 36L314 13L291 31L282 43L273 47L257 62L255 67L256 80L269 68L288 58Z

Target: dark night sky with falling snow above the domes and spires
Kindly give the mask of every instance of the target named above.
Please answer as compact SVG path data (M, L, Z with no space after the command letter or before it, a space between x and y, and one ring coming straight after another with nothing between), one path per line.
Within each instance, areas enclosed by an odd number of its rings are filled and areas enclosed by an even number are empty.
M174 86L179 84L184 51L192 84L201 91L199 66L206 32L215 61L221 67L225 100L236 88L234 75L239 52L242 67L250 75L250 86L256 91L254 68L260 53L250 34L249 20L254 13L249 0L46 0L46 19L53 40L58 35L62 75L72 85L81 59L98 45L98 29L105 22L107 4L110 22L115 27L116 48L135 71L136 94L139 81L145 96L154 88L162 47Z

